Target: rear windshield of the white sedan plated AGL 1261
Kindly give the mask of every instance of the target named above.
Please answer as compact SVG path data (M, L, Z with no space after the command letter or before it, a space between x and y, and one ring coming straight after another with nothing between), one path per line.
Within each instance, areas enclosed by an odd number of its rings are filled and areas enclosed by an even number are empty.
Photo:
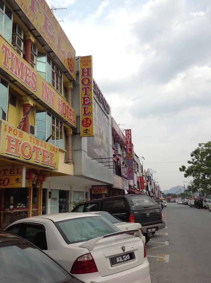
M107 234L120 232L102 216L88 216L55 222L67 244L88 241Z

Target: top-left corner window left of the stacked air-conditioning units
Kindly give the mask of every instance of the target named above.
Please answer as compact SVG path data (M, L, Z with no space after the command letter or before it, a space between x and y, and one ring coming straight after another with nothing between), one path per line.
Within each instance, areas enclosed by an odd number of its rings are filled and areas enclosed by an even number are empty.
M0 33L11 42L12 17L10 9L0 0Z

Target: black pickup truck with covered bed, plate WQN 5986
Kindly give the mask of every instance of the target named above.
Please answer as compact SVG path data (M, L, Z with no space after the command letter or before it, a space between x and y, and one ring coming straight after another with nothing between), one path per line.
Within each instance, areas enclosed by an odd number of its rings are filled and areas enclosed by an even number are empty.
M143 194L126 194L78 204L72 212L108 211L125 222L140 223L146 243L156 231L165 228L158 204Z

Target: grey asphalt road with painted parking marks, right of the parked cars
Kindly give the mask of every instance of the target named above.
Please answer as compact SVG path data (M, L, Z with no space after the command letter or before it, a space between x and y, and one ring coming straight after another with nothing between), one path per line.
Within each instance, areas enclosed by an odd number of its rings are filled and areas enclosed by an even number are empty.
M146 244L152 283L211 282L211 212L168 203L165 229Z

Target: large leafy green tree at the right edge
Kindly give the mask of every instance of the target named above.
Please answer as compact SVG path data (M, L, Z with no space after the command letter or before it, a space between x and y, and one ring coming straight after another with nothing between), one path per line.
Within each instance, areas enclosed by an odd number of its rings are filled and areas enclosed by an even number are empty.
M184 177L192 176L194 178L192 189L205 191L206 196L211 189L211 142L199 143L198 147L190 154L190 164L186 168L182 165L179 170L184 172Z

